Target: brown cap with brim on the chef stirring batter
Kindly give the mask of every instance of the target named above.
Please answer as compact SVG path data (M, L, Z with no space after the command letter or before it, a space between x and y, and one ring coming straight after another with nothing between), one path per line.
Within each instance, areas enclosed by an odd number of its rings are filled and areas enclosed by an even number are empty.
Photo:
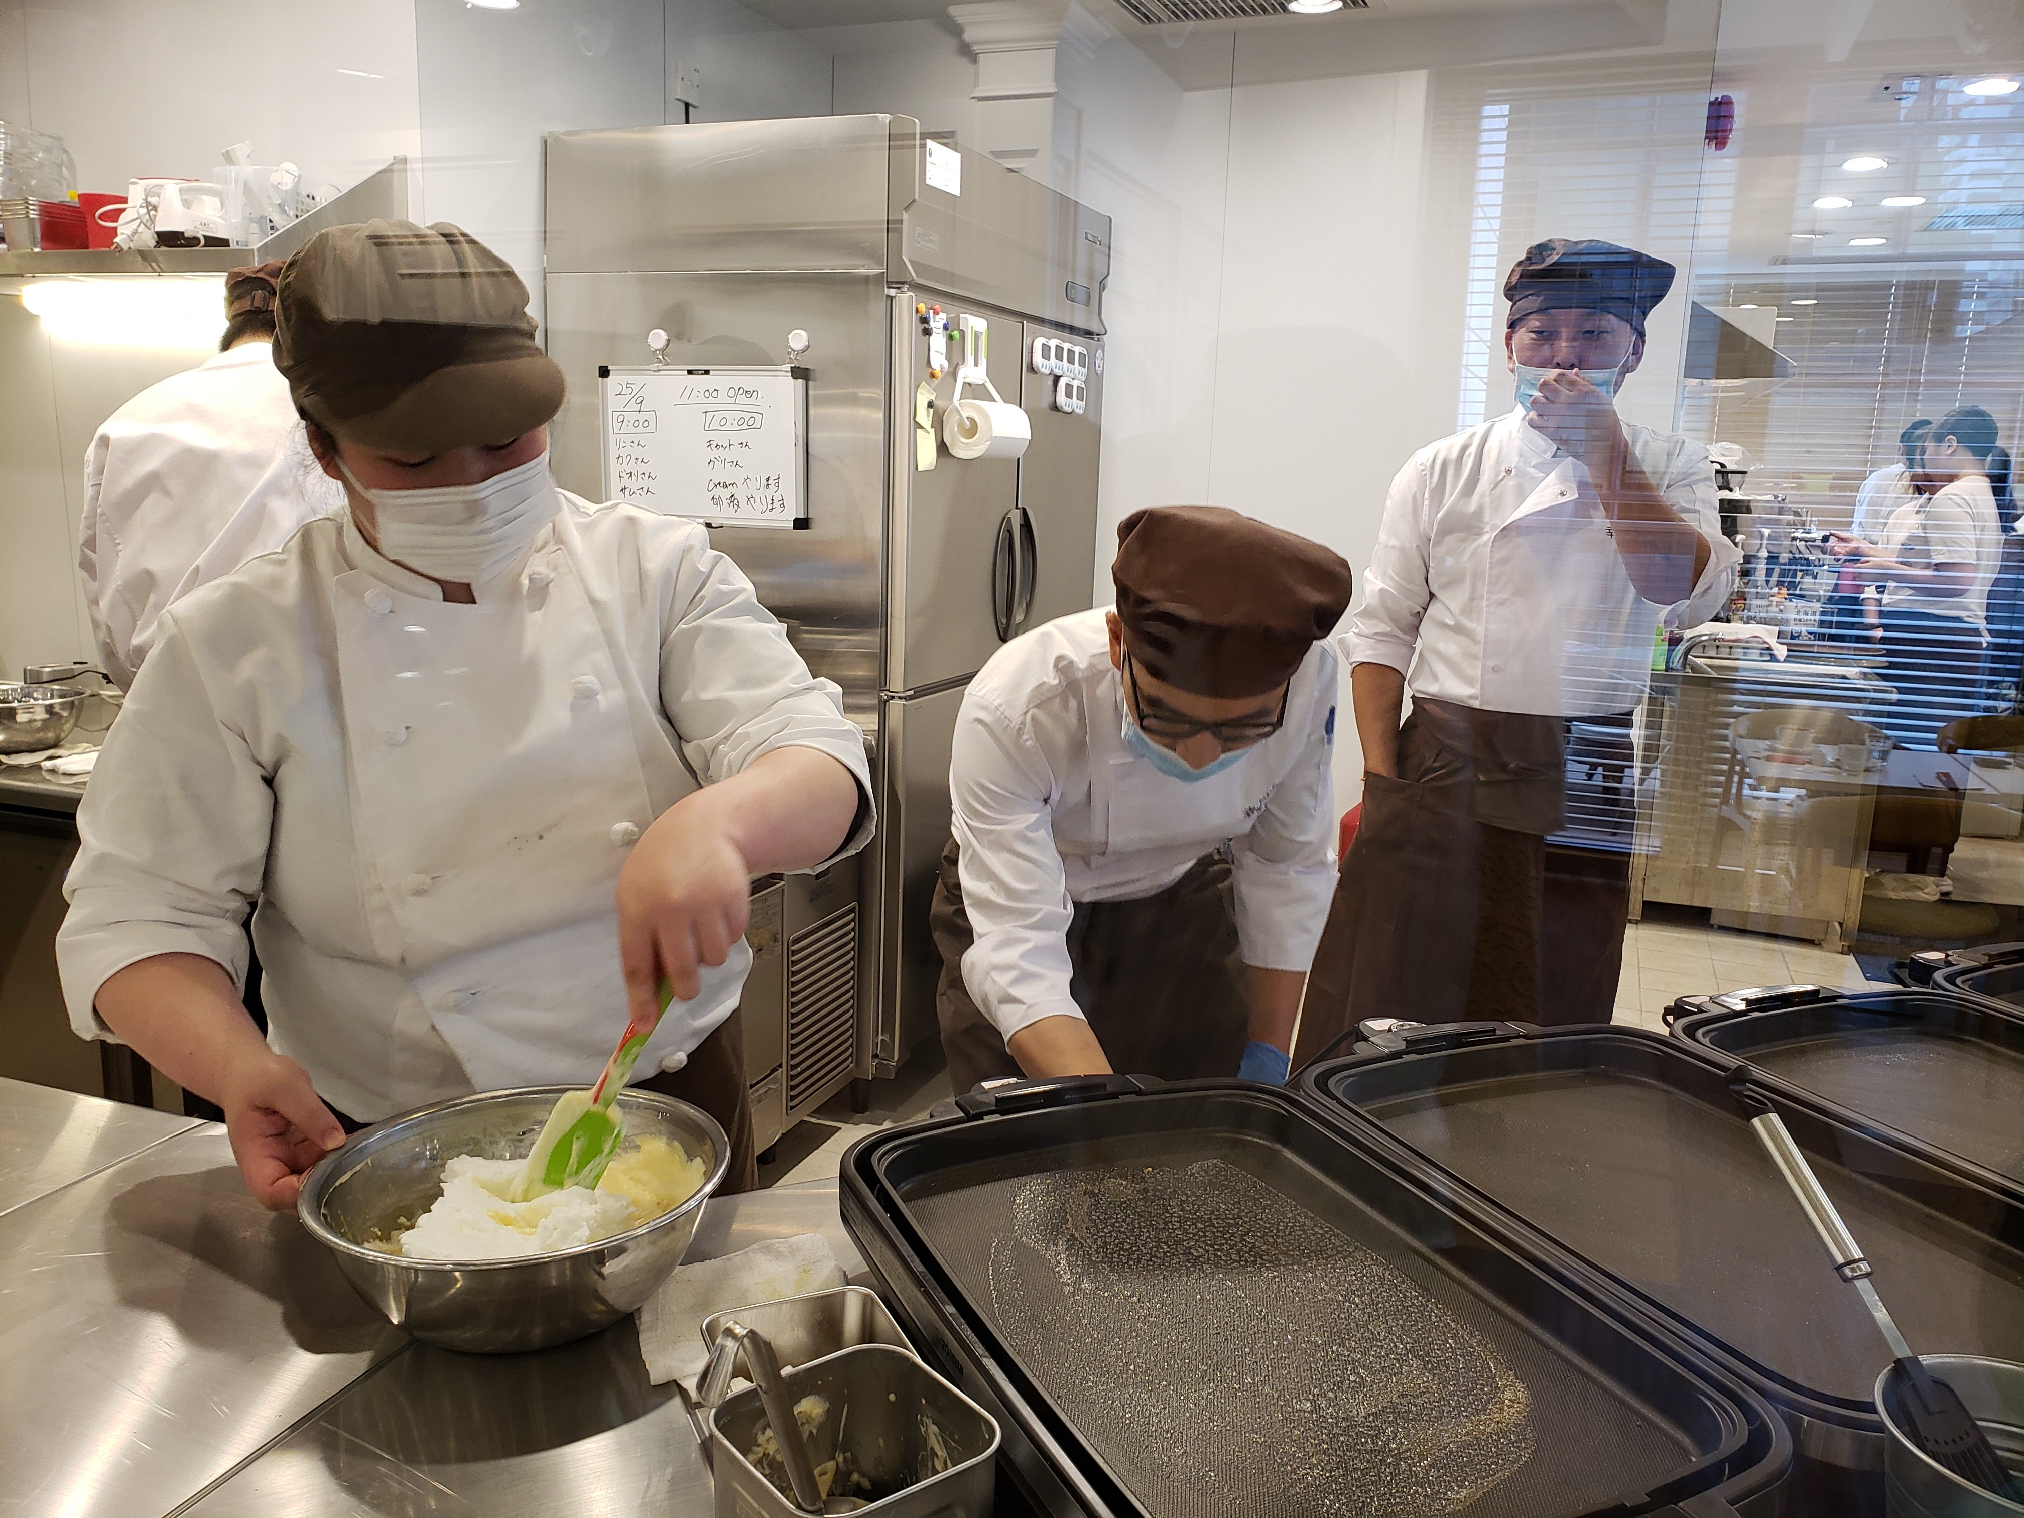
M447 221L304 243L281 269L273 362L312 421L389 451L506 443L563 409L520 275Z

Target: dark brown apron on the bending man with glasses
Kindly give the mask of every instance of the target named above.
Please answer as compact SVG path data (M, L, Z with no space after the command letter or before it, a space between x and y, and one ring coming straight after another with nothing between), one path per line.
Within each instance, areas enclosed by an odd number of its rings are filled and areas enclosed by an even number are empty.
M941 949L941 1046L949 1087L961 1095L978 1081L1018 1077L1020 1067L963 986L976 937L955 860L951 838L929 925ZM1237 1075L1251 1014L1229 860L1200 858L1166 891L1135 901L1079 903L1067 937L1071 994L1113 1071L1168 1081Z

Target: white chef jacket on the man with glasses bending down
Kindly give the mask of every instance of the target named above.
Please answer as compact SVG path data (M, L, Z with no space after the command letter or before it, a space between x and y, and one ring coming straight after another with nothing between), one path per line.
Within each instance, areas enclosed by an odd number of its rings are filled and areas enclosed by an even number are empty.
M1334 652L1310 650L1285 725L1208 779L1162 775L1125 747L1123 721L1101 609L1014 638L963 692L949 759L976 935L963 986L1006 1038L1083 1016L1069 994L1077 903L1166 891L1222 844L1247 965L1305 969L1322 941L1336 887Z

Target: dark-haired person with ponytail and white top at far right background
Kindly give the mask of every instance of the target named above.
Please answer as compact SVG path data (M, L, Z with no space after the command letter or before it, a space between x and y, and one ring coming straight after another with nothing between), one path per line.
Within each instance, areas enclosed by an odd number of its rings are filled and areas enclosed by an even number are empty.
M1899 698L1878 721L1899 743L1929 749L1943 723L1971 714L1979 694L2010 498L2010 453L1996 441L1996 419L1981 407L1955 407L1935 421L1917 476L1929 494L1899 506L1880 540L1842 532L1832 551L1882 587L1870 636Z

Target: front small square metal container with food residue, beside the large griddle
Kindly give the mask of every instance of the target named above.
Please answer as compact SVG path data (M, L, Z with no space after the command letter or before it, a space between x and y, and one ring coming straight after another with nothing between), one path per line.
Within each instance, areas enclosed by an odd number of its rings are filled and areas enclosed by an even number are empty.
M852 1467L870 1482L870 1492L858 1492L866 1500L858 1512L990 1518L998 1423L905 1350L862 1344L789 1370L781 1380L793 1401L828 1399L828 1415L810 1435L808 1453L818 1467L838 1453L850 1455ZM797 1518L802 1512L747 1457L765 1425L757 1388L710 1409L716 1518ZM933 1469L929 1425L947 1453L941 1471Z

